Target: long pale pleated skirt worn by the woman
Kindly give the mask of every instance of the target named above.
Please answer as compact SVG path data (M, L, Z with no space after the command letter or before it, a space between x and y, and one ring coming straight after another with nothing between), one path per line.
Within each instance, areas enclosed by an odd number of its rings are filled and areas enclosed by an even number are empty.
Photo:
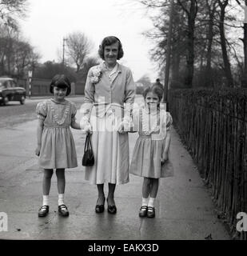
M118 125L121 117L114 107L107 110L103 117L92 111L90 124L94 152L94 166L86 166L85 179L90 184L124 184L129 182L129 138L128 134L120 134Z

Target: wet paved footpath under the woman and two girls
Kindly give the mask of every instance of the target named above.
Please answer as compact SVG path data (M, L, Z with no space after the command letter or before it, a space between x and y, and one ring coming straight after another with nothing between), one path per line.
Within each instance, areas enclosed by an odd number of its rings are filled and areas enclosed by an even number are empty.
M140 98L138 99L140 101ZM80 118L80 114L77 114ZM229 240L217 219L210 194L176 131L172 130L171 161L174 177L161 178L156 201L156 218L139 218L142 179L130 174L128 184L117 186L116 215L96 214L96 186L84 180L81 165L85 135L73 130L79 166L66 170L65 202L69 218L58 216L56 176L52 178L50 214L38 218L42 203L42 170L34 156L37 120L11 129L1 129L0 137L0 212L8 216L8 231L3 239L192 239L211 235ZM129 134L130 157L137 134ZM106 190L107 191L107 190Z

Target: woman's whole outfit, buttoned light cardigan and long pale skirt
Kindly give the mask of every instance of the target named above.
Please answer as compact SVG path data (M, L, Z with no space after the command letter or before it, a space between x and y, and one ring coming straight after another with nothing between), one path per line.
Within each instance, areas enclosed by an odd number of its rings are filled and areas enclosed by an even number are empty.
M129 182L129 137L116 128L122 118L130 118L133 100L134 82L129 68L117 64L110 74L102 63L90 69L81 110L84 118L90 112L93 128L91 142L95 161L94 166L85 168L85 178L92 185ZM124 108L124 104L128 106Z

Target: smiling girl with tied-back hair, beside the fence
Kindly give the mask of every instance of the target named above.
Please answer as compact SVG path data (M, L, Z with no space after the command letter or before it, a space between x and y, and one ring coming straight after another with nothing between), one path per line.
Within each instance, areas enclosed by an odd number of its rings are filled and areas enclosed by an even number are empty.
M173 176L169 162L169 127L171 115L160 109L163 90L158 86L147 88L143 97L144 108L133 111L133 131L139 138L133 150L130 173L144 178L140 217L155 217L154 201L157 196L159 178Z

